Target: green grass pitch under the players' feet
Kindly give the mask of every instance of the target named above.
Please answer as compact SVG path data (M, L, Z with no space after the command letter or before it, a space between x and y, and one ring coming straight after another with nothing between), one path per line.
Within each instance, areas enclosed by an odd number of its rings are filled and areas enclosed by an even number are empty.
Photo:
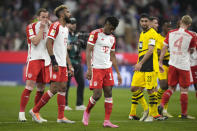
M23 91L23 86L18 87L0 87L0 131L196 131L196 120L182 120L177 116L180 114L180 92L173 94L168 111L174 115L174 118L169 118L166 121L154 121L152 123L144 123L139 121L128 120L128 114L131 105L131 93L128 88L113 89L114 107L111 115L111 121L119 125L117 129L103 128L104 119L104 98L100 99L93 108L90 116L90 122L87 127L83 126L81 119L83 111L65 111L65 115L75 120L76 124L59 124L57 119L57 99L54 96L47 105L41 109L40 113L48 123L38 124L32 122L28 111L34 105L35 90L31 94L30 101L26 108L27 122L18 122L18 111L20 95ZM47 90L48 88L46 88ZM87 105L88 99L92 92L86 88L84 104ZM147 96L147 94L145 93ZM69 92L69 104L74 109L76 102L76 88L71 88ZM139 105L137 108L138 115L141 115L142 108ZM197 99L194 92L189 92L189 109L188 113L197 118Z

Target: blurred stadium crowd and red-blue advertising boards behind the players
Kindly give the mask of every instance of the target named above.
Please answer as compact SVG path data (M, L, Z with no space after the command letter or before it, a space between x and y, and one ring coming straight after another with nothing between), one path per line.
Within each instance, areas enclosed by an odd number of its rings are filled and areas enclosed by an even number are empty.
M122 87L129 87L132 67L137 61L137 42L140 33L138 19L146 12L176 27L184 14L193 18L191 30L197 31L196 0L1 0L0 1L0 85L24 84L27 42L25 28L35 20L36 11L43 7L50 12L51 21L57 18L53 10L66 4L77 19L78 31L89 33L102 26L106 16L120 19L116 29L117 59L123 75ZM159 30L160 31L160 30ZM82 52L85 66L85 53ZM116 79L116 74L115 74ZM74 84L74 81L72 82ZM87 81L86 81L87 84Z

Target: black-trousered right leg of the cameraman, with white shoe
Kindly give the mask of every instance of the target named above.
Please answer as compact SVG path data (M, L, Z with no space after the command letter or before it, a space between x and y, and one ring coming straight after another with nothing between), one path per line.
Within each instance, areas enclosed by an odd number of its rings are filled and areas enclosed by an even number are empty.
M74 66L74 69L75 69L75 72L74 72L75 80L78 84L76 110L85 110L86 107L83 105L83 96L84 96L84 88L85 88L83 68L80 64L78 64Z

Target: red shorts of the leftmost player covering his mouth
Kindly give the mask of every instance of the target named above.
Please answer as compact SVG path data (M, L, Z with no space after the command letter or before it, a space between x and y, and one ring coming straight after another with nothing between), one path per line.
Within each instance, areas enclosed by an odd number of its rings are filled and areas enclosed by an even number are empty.
M28 61L26 68L26 80L33 80L37 83L45 82L44 60Z

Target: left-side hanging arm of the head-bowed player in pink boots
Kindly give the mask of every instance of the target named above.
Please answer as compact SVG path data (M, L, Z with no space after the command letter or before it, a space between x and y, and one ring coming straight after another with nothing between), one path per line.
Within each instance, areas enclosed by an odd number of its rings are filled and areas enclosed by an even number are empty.
M93 51L93 49L94 49L94 45L87 44L86 61L87 61L88 70L87 70L87 73L86 73L86 78L88 80L91 80L91 78L92 78L92 65L91 65L92 56L91 56L91 52Z

